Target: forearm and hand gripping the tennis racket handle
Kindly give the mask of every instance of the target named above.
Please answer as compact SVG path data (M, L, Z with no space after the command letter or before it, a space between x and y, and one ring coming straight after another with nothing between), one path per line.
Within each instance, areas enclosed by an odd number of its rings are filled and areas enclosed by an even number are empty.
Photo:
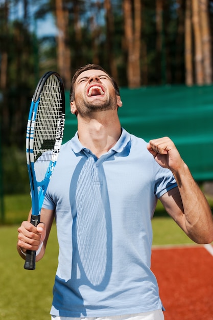
M25 259L25 255L22 252L26 253L27 250L36 251L43 243L39 255L36 256L36 261L39 261L45 253L46 243L48 242L54 219L54 211L41 209L41 222L36 227L30 223L30 218L31 212L29 213L28 221L23 221L18 228L17 250L19 255Z

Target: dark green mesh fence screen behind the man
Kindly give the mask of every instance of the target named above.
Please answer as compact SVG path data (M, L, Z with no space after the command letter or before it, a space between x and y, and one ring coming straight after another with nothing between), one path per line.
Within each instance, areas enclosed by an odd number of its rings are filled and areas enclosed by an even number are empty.
M66 92L64 142L77 130ZM213 179L213 86L162 86L121 89L122 126L150 139L169 136L196 180Z

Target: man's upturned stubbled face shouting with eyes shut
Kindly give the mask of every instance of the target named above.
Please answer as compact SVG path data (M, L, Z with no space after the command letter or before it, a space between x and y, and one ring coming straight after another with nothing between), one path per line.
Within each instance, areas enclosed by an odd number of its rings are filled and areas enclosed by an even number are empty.
M101 70L82 72L75 83L75 101L72 106L80 115L91 115L92 112L116 110L119 102L110 77ZM75 109L73 109L75 112Z

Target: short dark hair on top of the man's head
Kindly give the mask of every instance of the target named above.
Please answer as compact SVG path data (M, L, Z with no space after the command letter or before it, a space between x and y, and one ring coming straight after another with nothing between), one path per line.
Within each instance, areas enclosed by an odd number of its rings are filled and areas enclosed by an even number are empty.
M108 72L106 72L104 70L104 68L102 68L100 65L98 64L93 64L93 63L90 63L90 64L86 64L82 67L80 67L75 75L73 76L73 79L72 79L72 83L71 83L71 87L70 87L70 93L69 93L69 100L70 102L74 101L75 100L75 83L76 83L76 79L78 78L78 76L84 72L84 71L87 71L87 70L92 70L92 69L95 69L95 70L101 70L103 72L105 72L111 79L112 81L112 84L113 84L113 87L115 89L115 93L117 96L120 96L120 90L119 90L119 86L117 85L116 81L114 80L114 78L112 78Z

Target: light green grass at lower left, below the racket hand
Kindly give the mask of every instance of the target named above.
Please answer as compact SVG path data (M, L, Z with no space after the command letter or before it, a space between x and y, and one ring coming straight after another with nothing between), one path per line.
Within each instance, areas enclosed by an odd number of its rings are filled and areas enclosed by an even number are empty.
M7 320L50 319L52 287L57 267L58 244L53 225L44 258L36 269L23 269L16 252L17 226L0 228L0 318Z

